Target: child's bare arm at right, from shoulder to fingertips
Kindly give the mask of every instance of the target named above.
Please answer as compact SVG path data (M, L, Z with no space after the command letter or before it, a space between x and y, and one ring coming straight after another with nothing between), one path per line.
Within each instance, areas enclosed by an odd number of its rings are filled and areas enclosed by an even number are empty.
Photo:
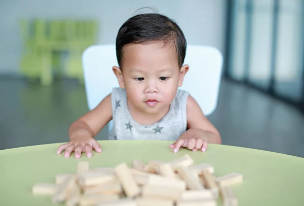
M221 144L219 132L190 95L187 99L187 128L188 130L174 144L170 145L174 152L177 152L180 147L204 152L207 149L207 143Z

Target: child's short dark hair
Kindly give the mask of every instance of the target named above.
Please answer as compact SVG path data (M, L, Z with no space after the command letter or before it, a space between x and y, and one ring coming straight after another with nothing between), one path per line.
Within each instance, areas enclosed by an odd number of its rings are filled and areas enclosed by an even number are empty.
M123 49L131 44L162 41L174 43L179 68L186 55L186 39L180 27L162 14L138 14L128 19L119 29L116 38L116 56L119 66L123 64Z

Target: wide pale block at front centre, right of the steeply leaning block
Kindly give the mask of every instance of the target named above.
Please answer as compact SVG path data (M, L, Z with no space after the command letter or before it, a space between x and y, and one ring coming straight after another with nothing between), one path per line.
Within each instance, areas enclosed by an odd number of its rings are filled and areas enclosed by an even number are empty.
M179 200L182 190L178 187L149 185L146 184L142 188L143 198L156 198L156 199L168 199Z

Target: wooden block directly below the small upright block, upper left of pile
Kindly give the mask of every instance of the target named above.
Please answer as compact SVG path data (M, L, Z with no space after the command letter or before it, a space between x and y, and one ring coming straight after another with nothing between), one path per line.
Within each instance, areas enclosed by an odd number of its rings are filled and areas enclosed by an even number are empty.
M104 174L100 171L89 171L79 177L79 184L82 187L91 187L100 184L105 184L111 181L117 180L114 174Z

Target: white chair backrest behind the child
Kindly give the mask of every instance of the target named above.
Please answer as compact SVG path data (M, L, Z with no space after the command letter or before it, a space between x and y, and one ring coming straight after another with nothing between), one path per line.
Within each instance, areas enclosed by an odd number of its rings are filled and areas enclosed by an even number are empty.
M112 72L117 65L115 45L94 45L83 53L84 81L90 110L108 95L113 87L119 87ZM180 89L190 92L206 116L216 108L222 71L221 53L207 46L188 45L184 64L189 65Z

